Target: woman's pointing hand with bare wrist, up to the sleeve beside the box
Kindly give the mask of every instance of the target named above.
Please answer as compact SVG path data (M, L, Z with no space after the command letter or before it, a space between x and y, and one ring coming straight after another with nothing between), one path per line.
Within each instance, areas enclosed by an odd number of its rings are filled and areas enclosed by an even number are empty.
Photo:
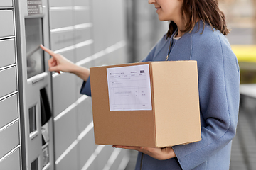
M70 72L77 75L84 81L87 81L90 75L89 69L74 64L70 60L63 57L63 55L55 54L52 50L49 50L48 48L43 47L43 45L40 45L40 47L46 52L48 52L49 55L52 56L52 58L48 60L50 72L58 72L59 74L60 74L60 71Z

